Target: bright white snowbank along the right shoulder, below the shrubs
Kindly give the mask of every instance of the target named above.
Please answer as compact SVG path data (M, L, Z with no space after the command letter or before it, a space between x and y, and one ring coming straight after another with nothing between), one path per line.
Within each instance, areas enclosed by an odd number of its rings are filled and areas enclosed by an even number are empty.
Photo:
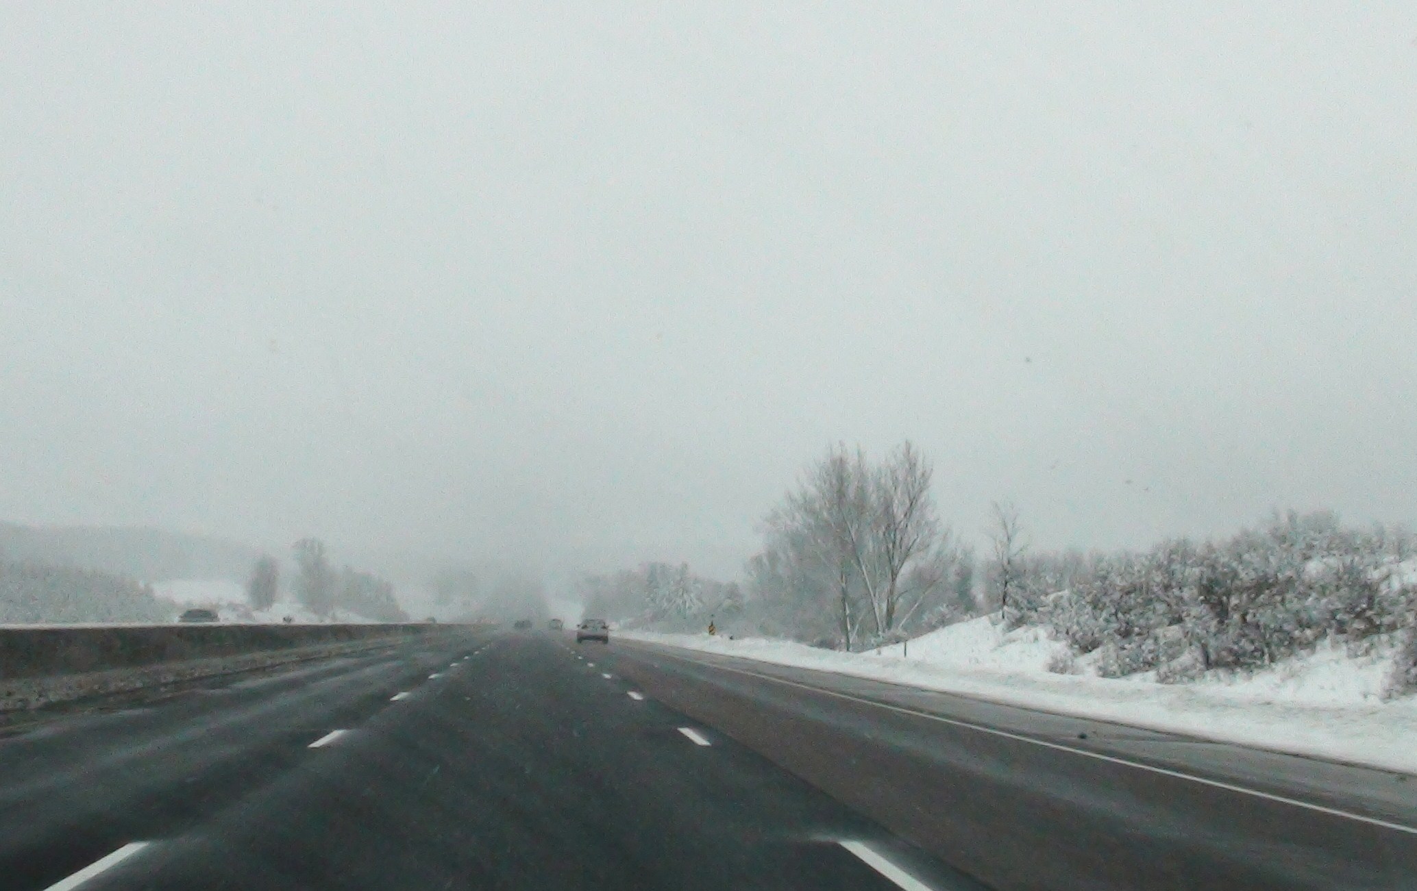
M621 636L1417 773L1417 698L1379 698L1391 645L1367 656L1325 645L1247 676L1159 684L1151 674L1097 677L1085 657L1074 674L1050 671L1068 663L1064 645L1037 628L1000 633L989 618L917 637L908 653L901 645L839 653L786 640Z

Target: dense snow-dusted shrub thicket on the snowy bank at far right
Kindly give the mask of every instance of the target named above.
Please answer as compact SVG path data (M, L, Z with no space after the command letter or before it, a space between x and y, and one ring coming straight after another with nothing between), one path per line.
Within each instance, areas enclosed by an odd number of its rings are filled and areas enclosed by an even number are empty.
M1331 636L1362 647L1399 630L1414 603L1394 569L1410 541L1289 513L1219 543L1094 557L1067 591L1041 598L1034 618L1076 652L1100 650L1107 677L1257 667Z

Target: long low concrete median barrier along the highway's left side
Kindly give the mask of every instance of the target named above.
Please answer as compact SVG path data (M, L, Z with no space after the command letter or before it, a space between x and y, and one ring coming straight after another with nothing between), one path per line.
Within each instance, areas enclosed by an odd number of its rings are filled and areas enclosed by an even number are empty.
M458 633L448 625L0 628L0 713Z

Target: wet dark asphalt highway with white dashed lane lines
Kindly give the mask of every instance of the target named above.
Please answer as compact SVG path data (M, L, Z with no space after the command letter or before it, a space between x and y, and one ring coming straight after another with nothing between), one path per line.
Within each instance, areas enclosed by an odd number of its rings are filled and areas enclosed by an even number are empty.
M1417 888L1417 796L859 679L485 633L11 728L0 888L77 887Z

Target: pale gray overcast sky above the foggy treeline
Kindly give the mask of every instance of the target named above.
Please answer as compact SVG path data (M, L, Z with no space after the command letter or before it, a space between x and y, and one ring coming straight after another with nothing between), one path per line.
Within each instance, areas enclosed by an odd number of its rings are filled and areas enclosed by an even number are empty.
M968 535L1417 523L1410 1L468 6L0 7L0 517L728 575L911 438Z

